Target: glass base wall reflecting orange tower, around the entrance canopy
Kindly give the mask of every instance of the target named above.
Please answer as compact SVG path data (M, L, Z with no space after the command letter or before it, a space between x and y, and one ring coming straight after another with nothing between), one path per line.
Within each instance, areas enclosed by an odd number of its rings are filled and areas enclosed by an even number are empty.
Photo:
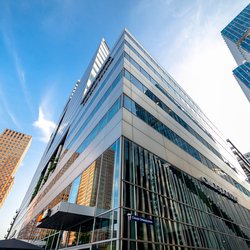
M61 201L95 208L95 216L67 230L48 230L36 228L36 223L28 225L33 240L46 242L45 249L71 247L91 242L109 241L105 248L116 249L114 239L118 238L118 207L120 190L121 140L118 139L102 155L90 164L54 201L47 206L52 208ZM65 196L65 192L68 195ZM34 222L36 222L36 218ZM27 228L24 228L27 232ZM31 235L26 235L30 238ZM98 248L98 244L92 249Z

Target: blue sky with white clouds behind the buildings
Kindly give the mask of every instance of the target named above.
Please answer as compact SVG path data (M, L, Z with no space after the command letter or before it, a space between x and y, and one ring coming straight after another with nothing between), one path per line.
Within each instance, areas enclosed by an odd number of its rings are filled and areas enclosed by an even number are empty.
M0 209L0 238L19 208L46 141L101 38L124 27L201 106L226 138L249 146L249 103L221 29L247 0L0 0L0 131L32 135ZM248 136L247 136L248 135Z

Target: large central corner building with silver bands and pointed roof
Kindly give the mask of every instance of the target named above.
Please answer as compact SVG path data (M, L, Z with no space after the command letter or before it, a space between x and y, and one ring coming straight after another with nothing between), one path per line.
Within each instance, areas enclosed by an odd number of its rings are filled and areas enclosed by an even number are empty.
M10 235L46 249L249 249L250 184L200 108L125 30L63 109Z

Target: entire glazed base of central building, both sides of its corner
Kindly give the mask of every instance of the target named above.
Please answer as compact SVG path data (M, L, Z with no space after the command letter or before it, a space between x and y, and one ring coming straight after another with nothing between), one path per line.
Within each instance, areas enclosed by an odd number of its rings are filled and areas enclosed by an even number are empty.
M95 216L66 230L33 223L30 233L46 242L45 249L250 248L249 210L126 138L103 152L48 208L61 200L93 207Z

